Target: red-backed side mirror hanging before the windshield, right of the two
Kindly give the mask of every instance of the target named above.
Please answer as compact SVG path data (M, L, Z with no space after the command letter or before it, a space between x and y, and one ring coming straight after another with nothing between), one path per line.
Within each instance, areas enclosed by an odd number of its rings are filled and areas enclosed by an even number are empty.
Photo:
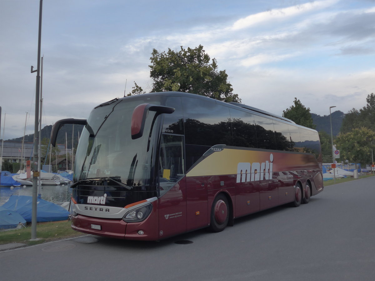
M143 135L144 123L146 122L147 112L155 111L156 115L159 114L171 114L174 112L174 108L162 105L153 105L151 103L142 103L138 105L132 114L131 121L131 133L132 139L138 139Z

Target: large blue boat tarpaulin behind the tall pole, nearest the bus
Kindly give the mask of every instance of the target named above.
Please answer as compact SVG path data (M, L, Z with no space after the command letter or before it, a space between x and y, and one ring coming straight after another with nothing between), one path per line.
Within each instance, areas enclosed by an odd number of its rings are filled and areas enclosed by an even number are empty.
M62 206L46 200L37 199L37 222L68 220L69 212ZM31 222L32 197L25 195L12 195L3 205L4 208L16 211L27 222Z

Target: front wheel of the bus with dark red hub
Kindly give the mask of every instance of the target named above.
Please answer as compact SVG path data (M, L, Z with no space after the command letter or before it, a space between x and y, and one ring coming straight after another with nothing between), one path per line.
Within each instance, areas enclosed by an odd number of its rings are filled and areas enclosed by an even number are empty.
M223 231L229 221L228 200L223 194L216 196L211 208L210 230Z

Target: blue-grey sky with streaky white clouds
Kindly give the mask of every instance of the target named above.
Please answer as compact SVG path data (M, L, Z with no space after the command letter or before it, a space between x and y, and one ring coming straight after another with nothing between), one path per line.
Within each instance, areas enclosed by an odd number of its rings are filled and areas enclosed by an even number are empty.
M0 1L0 138L34 133L39 0ZM375 93L375 0L44 0L42 127L152 86L151 52L204 46L242 103L329 115Z

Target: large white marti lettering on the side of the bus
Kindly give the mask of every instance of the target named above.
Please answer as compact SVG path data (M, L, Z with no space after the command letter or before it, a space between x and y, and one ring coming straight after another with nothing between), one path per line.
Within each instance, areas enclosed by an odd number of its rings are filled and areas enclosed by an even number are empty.
M272 179L273 154L270 161L258 163L240 162L237 164L237 181L259 181L261 179Z

